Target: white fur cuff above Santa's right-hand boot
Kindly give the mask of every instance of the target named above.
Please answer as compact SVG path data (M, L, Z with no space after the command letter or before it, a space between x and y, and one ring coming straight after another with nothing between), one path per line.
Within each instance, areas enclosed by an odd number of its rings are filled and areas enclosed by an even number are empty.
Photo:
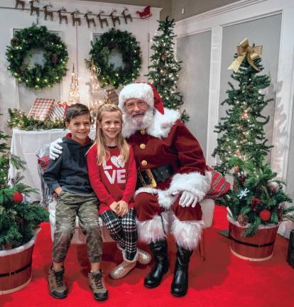
M185 249L195 249L201 239L204 222L200 221L180 221L173 215L171 233L175 237L175 242Z

